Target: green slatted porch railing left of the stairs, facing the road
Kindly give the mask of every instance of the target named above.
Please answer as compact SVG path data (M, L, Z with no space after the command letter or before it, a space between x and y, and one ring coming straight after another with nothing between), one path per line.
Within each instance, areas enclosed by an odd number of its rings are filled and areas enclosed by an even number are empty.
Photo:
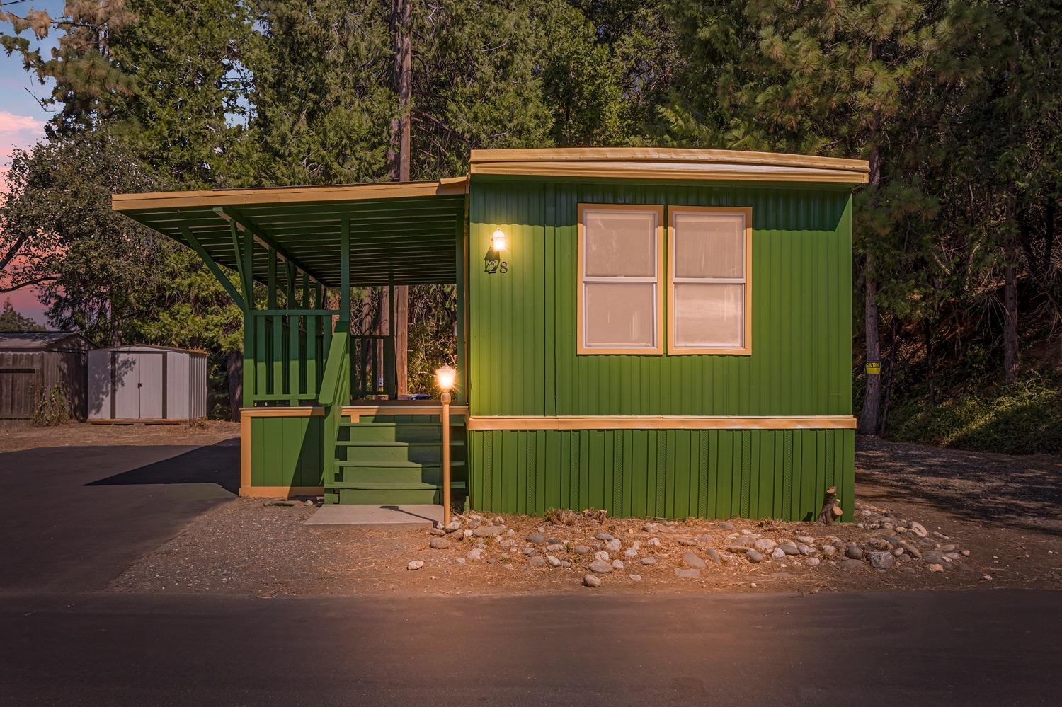
M323 390L339 310L266 309L251 314L254 332L252 401L313 400ZM337 329L338 330L338 329Z

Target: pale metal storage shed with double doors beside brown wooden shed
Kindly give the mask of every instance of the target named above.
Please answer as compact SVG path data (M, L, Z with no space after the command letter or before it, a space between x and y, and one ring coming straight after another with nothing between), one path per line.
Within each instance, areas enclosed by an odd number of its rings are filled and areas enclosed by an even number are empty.
M181 421L196 417L206 417L206 353L148 345L89 352L90 421Z

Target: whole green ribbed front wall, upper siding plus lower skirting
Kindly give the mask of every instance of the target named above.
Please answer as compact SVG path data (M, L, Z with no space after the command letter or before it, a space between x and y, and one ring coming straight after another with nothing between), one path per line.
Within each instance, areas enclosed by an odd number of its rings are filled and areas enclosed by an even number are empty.
M852 414L851 194L830 187L474 178L472 415ZM750 206L751 356L577 356L577 205ZM491 234L508 272L489 275ZM472 503L613 515L804 519L837 485L851 430L468 433Z

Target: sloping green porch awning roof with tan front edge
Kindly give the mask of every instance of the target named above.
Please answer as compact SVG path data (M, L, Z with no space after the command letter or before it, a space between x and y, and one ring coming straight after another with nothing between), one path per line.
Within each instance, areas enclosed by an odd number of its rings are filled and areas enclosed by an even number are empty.
M112 208L233 270L236 224L241 242L245 231L254 236L256 280L268 281L268 252L275 249L279 260L333 288L342 224L349 220L352 284L432 284L457 281L466 193L467 179L456 177L115 194Z

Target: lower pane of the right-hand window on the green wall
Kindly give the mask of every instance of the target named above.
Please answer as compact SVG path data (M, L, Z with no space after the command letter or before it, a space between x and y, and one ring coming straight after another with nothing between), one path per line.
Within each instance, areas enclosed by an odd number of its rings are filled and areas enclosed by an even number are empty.
M743 284L675 284L674 310L676 346L743 345Z

